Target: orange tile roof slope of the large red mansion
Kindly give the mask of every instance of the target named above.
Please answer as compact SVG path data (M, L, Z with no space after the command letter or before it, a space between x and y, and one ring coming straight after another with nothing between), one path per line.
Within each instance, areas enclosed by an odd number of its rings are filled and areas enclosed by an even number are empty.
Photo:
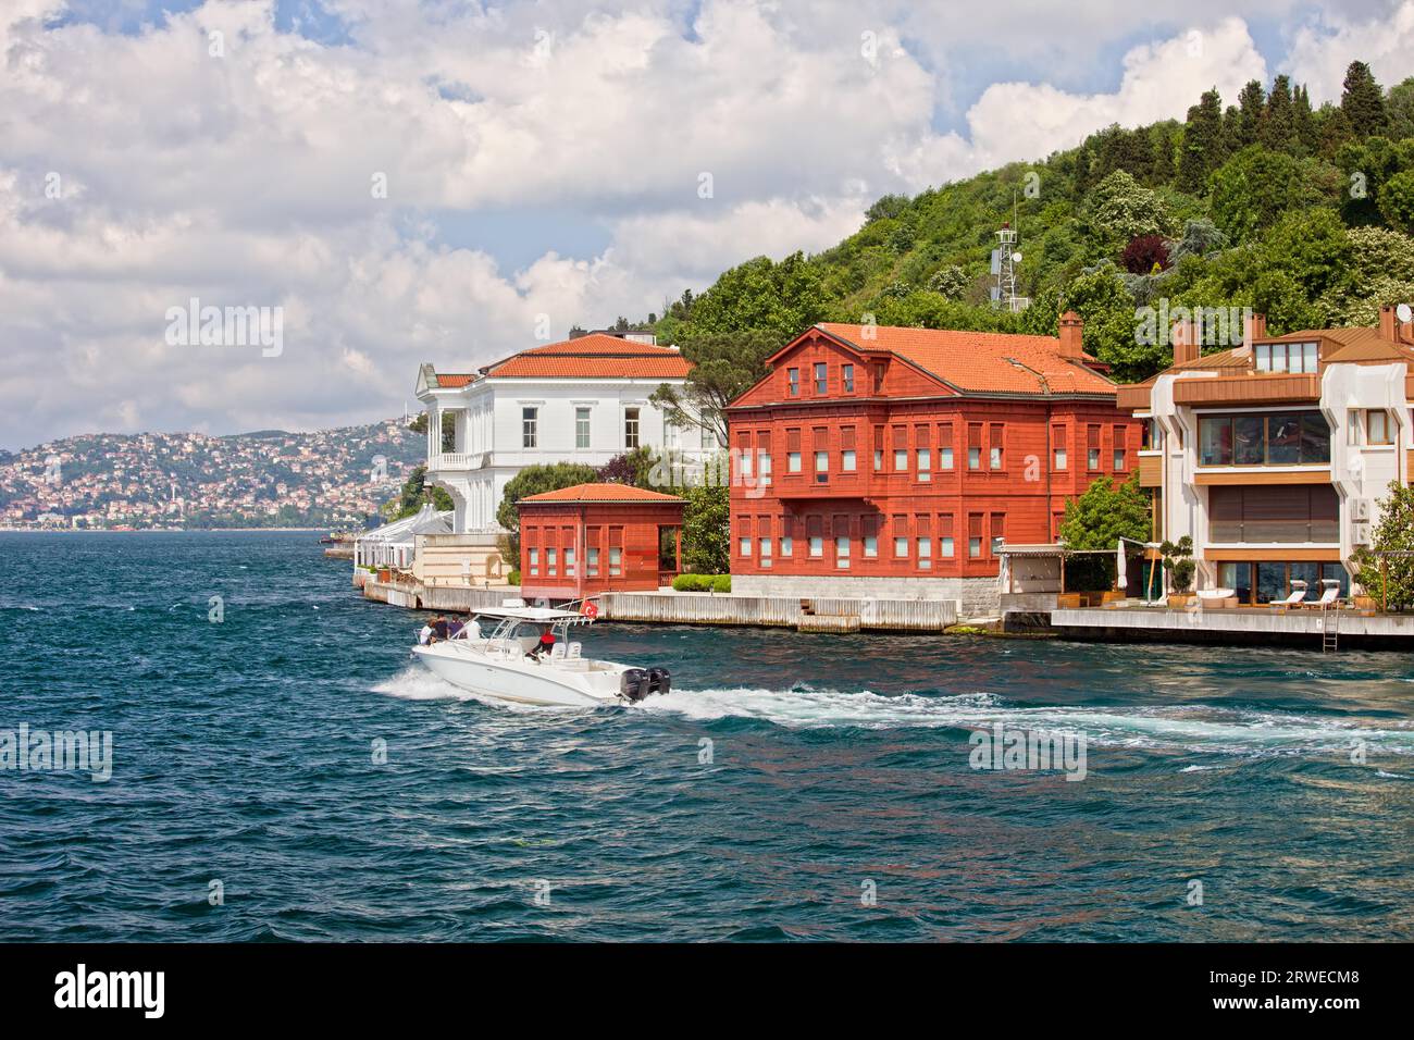
M1051 335L880 325L874 338L864 340L855 324L822 323L816 328L861 351L896 354L964 392L1116 392L1113 382L1082 364L1093 358L1066 358L1060 341Z

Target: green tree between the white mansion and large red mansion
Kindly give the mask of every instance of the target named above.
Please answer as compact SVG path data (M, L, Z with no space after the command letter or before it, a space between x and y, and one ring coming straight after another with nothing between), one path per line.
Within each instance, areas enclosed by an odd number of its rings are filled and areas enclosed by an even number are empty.
M650 400L663 409L670 423L683 430L707 430L725 446L724 409L766 375L766 358L789 338L765 330L690 335L679 344L683 357L693 362L683 385L662 383Z

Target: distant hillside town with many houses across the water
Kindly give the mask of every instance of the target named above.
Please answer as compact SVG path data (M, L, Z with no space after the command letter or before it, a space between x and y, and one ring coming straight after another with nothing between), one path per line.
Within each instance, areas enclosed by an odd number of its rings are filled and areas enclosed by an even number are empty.
M400 419L314 433L66 437L0 453L0 526L362 528L423 456Z

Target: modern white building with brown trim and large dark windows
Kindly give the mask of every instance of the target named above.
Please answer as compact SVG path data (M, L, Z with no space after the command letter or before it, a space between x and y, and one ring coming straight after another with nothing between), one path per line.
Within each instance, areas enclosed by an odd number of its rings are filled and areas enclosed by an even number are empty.
M1174 365L1118 396L1147 427L1154 541L1192 538L1196 587L1243 604L1284 599L1294 579L1348 593L1379 498L1410 480L1414 328L1384 307L1374 328L1287 335L1256 316L1239 347L1205 355L1195 325L1174 338Z

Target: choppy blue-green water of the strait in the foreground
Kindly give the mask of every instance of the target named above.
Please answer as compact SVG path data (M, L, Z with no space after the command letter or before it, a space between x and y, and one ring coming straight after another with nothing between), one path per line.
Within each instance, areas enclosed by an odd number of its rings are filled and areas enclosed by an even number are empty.
M510 710L308 533L0 570L0 730L115 741L0 771L0 940L1414 938L1408 655L600 624L679 691ZM970 768L997 722L1086 778Z

